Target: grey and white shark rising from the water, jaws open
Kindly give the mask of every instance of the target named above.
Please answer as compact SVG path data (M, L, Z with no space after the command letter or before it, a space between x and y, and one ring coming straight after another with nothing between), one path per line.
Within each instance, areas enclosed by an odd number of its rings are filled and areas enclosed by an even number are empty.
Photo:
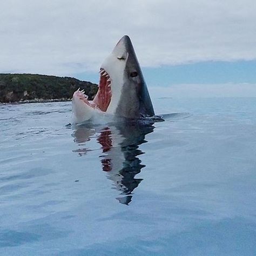
M153 117L154 109L129 36L123 36L100 66L99 89L88 100L79 89L73 94L73 123L98 114L124 118Z

